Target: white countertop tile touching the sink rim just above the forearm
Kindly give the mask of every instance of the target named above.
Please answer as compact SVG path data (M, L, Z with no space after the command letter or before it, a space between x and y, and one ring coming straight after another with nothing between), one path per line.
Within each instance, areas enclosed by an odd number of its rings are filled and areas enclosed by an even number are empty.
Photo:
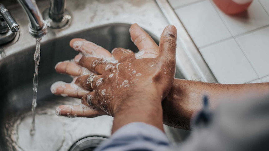
M246 83L258 78L234 39L208 46L200 52L219 83Z

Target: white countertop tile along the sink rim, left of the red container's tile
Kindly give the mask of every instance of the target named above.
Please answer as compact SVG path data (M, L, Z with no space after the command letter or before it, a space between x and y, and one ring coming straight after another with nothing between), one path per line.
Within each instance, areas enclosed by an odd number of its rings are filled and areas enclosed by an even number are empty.
M202 1L175 10L198 48L232 35L209 1Z

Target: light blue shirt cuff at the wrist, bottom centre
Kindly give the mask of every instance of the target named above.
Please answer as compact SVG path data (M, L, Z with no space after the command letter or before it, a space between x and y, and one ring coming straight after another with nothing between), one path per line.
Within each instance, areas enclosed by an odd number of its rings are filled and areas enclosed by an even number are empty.
M157 127L134 122L121 127L96 150L167 150L171 146L166 135Z

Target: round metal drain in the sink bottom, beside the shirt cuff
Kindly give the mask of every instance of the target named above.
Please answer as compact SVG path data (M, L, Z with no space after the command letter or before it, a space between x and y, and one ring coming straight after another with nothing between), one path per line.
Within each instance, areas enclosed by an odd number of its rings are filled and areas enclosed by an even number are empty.
M69 151L92 151L106 139L105 136L87 136L73 144Z

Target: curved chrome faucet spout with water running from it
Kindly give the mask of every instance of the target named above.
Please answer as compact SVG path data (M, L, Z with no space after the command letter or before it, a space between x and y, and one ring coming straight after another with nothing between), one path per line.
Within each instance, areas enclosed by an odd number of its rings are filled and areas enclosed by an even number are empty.
M35 0L18 0L27 14L29 32L34 38L42 38L47 33L46 23L37 7Z

